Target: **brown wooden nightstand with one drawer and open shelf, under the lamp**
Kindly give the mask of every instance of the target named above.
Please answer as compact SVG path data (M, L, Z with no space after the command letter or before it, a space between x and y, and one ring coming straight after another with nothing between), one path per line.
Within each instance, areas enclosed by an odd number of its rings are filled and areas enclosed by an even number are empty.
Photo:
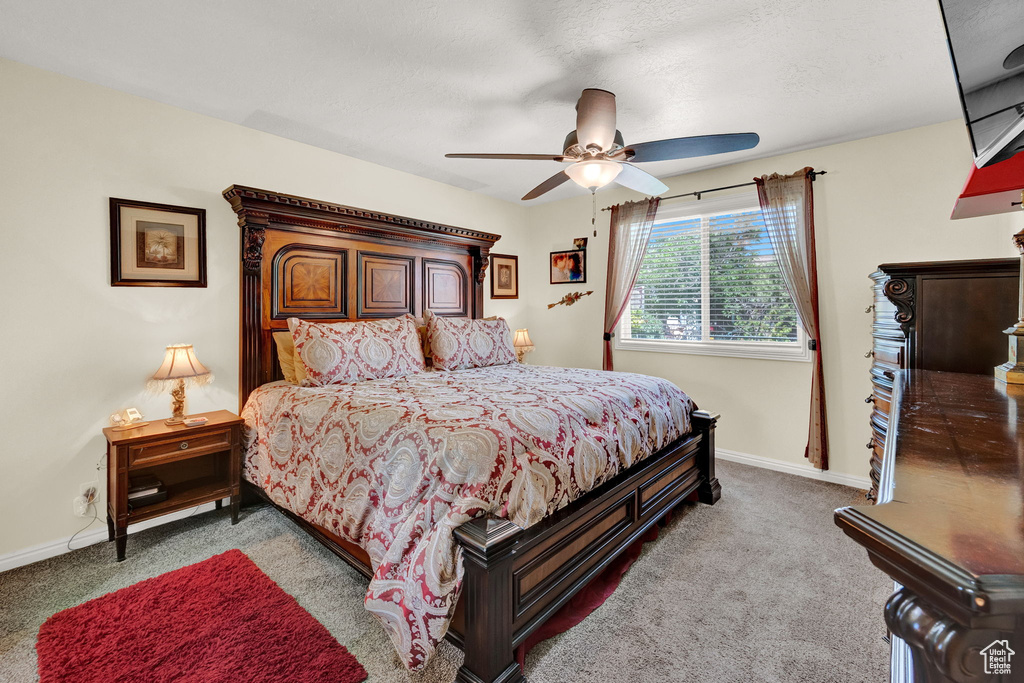
M239 521L242 477L242 418L227 411L203 413L202 427L166 425L154 420L135 429L103 430L106 437L106 530L125 558L128 525L215 501L231 499L231 523ZM166 500L128 503L129 479L153 475L163 482Z

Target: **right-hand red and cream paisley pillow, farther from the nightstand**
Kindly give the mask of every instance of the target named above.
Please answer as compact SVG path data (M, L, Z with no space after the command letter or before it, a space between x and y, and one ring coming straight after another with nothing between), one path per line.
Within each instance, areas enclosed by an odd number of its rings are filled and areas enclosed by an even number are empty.
M439 317L426 311L427 339L435 370L463 370L515 362L512 331L503 317Z

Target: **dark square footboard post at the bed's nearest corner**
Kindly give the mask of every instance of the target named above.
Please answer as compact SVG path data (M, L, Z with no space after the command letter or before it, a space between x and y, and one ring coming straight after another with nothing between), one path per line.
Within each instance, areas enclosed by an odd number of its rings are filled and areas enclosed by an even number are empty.
M477 517L456 527L465 574L462 597L466 659L456 683L522 683L512 646L512 560L522 529L507 519Z

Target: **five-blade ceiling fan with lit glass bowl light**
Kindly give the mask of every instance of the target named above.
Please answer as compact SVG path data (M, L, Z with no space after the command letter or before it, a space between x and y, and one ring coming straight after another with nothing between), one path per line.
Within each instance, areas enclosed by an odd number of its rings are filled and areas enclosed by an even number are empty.
M738 152L757 146L757 133L694 135L627 144L615 129L615 95L607 90L587 88L577 102L577 128L565 136L560 155L444 155L449 159L526 159L570 164L522 198L537 199L566 180L596 191L609 182L644 195L660 195L668 185L633 164L670 159L689 159Z

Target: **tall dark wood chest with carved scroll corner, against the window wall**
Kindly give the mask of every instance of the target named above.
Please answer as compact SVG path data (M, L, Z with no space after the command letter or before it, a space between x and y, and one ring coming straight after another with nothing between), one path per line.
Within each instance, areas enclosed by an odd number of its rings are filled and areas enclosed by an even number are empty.
M886 263L871 273L871 490L878 497L893 373L939 370L991 376L1007 359L1002 330L1017 322L1020 260Z

